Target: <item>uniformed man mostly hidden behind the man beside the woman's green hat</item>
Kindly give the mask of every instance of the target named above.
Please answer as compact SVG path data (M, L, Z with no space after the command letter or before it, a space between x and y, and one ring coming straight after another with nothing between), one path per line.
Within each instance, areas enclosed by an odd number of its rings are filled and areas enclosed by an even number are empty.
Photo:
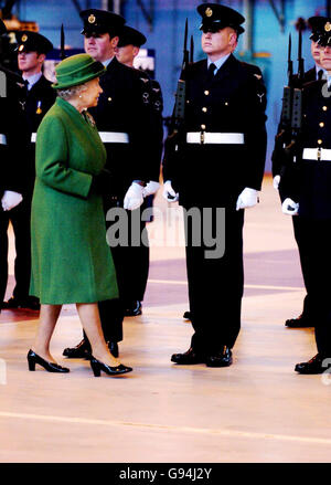
M119 35L119 41L116 48L116 57L122 64L134 67L135 57L139 54L141 45L146 43L146 36L136 29L129 25L124 25ZM159 190L160 164L162 156L162 139L163 139L163 122L162 109L163 98L161 86L156 80L151 80L147 73L140 71L140 76L146 80L146 87L149 87L149 95L153 108L153 128L154 135L149 141L149 151L154 150L156 164L153 167L152 180L150 180L143 189L145 202L142 209L151 208L153 197ZM149 218L150 220L151 218ZM141 221L141 230L146 226L146 222ZM130 278L127 286L125 315L137 316L142 313L141 302L146 292L148 272L149 272L149 246L143 244L137 247L136 252L131 251L132 266L137 267L137 272Z

